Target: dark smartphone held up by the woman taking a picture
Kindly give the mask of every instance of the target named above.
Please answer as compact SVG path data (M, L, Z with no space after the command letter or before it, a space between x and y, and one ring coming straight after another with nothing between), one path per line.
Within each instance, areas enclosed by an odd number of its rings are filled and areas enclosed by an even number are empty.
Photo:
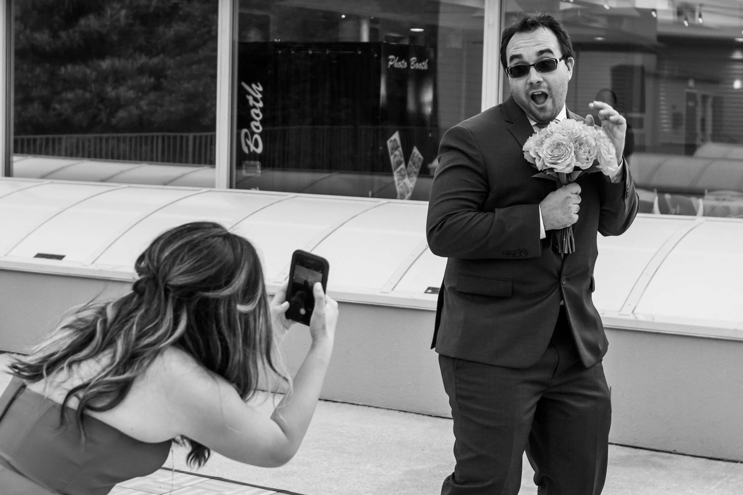
M291 255L289 283L286 289L286 300L289 309L286 317L293 321L309 325L315 308L313 287L316 282L322 283L322 291L328 286L328 260L310 252L297 249Z

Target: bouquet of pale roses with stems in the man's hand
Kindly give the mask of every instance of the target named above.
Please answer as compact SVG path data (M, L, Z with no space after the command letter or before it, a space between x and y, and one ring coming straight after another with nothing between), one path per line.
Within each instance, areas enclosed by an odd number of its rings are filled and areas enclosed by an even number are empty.
M539 170L533 177L557 180L562 186L588 172L611 175L619 170L617 150L606 132L574 119L551 122L533 134L523 149L526 160ZM560 229L558 235L559 252L574 252L573 226Z

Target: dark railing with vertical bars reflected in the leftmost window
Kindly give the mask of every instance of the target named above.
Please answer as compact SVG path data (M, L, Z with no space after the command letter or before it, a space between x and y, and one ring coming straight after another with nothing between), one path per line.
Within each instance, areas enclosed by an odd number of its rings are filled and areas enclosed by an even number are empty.
M215 133L48 134L13 137L15 154L214 165Z

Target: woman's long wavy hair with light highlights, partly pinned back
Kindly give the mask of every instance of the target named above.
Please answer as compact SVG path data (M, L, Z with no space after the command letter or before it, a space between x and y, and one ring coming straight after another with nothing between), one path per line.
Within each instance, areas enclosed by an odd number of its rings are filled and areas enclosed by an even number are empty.
M261 376L276 373L275 338L261 262L253 245L218 223L194 222L158 236L137 258L132 292L115 301L83 306L30 355L10 364L15 376L39 381L89 359L109 357L103 368L69 390L77 423L85 410L119 404L134 378L169 346L234 384L250 399ZM279 367L280 368L280 367ZM203 465L210 450L179 439L188 462Z

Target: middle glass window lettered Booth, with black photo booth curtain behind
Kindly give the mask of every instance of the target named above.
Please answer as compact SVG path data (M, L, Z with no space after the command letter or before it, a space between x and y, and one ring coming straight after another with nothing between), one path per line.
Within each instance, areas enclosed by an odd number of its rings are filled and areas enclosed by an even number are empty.
M428 200L480 111L483 5L240 0L236 186Z

